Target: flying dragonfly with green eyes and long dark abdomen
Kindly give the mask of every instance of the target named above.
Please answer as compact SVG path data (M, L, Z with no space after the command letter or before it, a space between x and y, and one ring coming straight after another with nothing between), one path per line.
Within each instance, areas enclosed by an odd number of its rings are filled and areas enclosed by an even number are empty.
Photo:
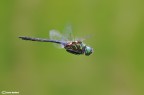
M75 55L89 56L93 53L93 48L87 46L82 40L75 40L71 29L68 28L65 34L61 34L57 30L49 31L49 39L45 38L33 38L28 36L20 36L22 40L38 41L38 42L51 42L61 45L67 52Z

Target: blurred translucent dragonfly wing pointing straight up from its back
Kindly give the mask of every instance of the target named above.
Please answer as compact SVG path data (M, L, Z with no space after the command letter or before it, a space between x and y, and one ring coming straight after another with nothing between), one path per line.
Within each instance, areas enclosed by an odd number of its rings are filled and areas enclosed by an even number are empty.
M74 36L72 33L72 26L70 24L66 25L64 29L63 39L66 41L74 41Z

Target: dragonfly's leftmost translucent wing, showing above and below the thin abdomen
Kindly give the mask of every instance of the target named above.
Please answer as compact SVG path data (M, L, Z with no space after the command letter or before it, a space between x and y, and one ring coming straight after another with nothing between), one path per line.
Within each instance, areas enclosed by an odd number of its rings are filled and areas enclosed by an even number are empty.
M57 30L50 30L50 31L49 31L49 38L50 38L51 40L62 41L63 36L62 36L62 34L61 34L59 31L57 31ZM57 48L64 48L63 45L59 45L59 44L55 44L55 43L54 43L54 46L57 47Z

